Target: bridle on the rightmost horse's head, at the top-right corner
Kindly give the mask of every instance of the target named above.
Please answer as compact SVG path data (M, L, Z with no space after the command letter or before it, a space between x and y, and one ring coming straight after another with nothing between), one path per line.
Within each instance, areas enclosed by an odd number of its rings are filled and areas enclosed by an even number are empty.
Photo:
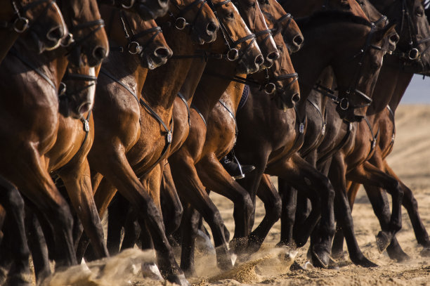
M424 4L424 6L425 5L426 4ZM400 32L399 32L400 37L403 34L403 28L405 27L405 22L408 26L409 49L407 51L394 51L393 54L398 56L399 58L403 58L404 60L412 60L412 61L422 60L421 56L430 48L430 44L424 49L424 51L419 51L419 46L421 44L424 44L430 41L430 37L426 37L424 39L417 41L419 34L415 30L406 0L402 0L402 16L401 16Z

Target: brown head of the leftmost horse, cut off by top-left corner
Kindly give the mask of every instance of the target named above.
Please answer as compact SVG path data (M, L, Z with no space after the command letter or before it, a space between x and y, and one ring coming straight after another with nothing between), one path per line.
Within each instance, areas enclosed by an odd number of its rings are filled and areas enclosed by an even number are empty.
M57 48L67 33L63 16L51 0L3 0L0 5L0 63L20 34L30 28L28 44L39 53Z

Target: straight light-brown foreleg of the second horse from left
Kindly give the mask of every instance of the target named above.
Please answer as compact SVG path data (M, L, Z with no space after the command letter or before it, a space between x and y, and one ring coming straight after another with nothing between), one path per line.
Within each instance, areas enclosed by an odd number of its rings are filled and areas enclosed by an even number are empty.
M59 175L64 182L84 231L91 240L96 258L100 259L109 256L103 227L93 198L88 161L85 159L77 164L67 166L61 169Z

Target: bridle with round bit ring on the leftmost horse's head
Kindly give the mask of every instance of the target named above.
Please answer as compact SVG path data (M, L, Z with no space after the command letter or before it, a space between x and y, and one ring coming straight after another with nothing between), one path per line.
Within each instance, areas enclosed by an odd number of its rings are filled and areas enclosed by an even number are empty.
M13 10L15 11L15 18L11 21L3 21L0 22L0 28L5 28L5 29L13 29L15 32L17 32L18 34L25 32L28 27L30 27L30 20L25 17L25 13L27 13L27 11L30 11L32 8L35 8L41 4L44 4L46 2L49 2L48 5L46 5L46 7L44 8L44 11L42 11L40 13L40 15L37 17L37 20L46 13L46 11L48 11L48 8L52 6L53 3L55 3L55 0L37 0L37 1L33 1L30 4L27 4L26 6L20 7L18 8L18 5L16 4L16 1L11 1ZM37 22L37 20L35 20L34 22Z

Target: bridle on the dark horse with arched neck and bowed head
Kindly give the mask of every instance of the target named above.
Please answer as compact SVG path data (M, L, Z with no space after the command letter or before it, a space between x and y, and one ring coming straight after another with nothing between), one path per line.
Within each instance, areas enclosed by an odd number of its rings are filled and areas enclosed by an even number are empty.
M374 44L371 44L371 41L372 41L374 32L377 31L377 25L379 24L379 22L382 22L382 21L386 22L386 20L387 20L386 16L383 15L376 22L370 23L370 32L369 34L367 34L365 45L363 46L363 48L360 49L360 51L355 56L353 56L353 59L360 57L360 60L358 61L358 67L356 68L356 72L354 72L354 76L351 79L351 83L349 84L348 89L346 89L345 94L337 98L337 104L339 105L339 108L341 110L348 110L349 108L352 108L352 109L364 108L366 106L369 106L370 103L372 103L372 98L367 96L362 91L358 90L357 86L358 86L358 81L360 80L360 75L363 73L363 62L367 51L369 51L370 48L374 48L379 51L382 50L381 46L376 46ZM352 95L355 95L356 97L363 99L364 104L361 104L361 105L351 104L348 98L350 98L350 96Z

